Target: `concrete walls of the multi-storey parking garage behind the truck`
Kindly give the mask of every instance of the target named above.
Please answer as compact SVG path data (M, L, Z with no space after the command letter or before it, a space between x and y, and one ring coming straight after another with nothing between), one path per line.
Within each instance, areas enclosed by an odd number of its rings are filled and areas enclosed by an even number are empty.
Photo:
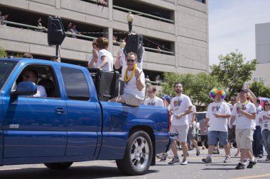
M8 21L13 20L16 23L28 23L31 19L31 24L34 24L39 16L44 17L45 22L45 17L60 16L64 24L71 21L80 24L77 28L82 28L82 31L99 31L103 36L108 37L109 51L116 57L119 46L113 45L113 35L116 32L128 31L127 11L122 11L121 8L129 9L127 7L130 3L134 4L137 11L153 8L153 11L161 12L161 16L166 14L168 16L166 18L171 22L133 13L133 30L150 42L157 40L158 43L166 44L165 50L173 54L146 50L143 68L146 71L170 71L182 74L208 71L207 0L130 0L129 2L108 0L107 6L94 2L92 0L0 0L0 11L9 13ZM45 23L43 25L47 26ZM0 26L0 32L0 46L9 52L30 52L34 57L55 55L55 47L48 47L47 33L9 24ZM91 51L90 40L66 37L60 52L61 58L68 59L70 62L87 62Z

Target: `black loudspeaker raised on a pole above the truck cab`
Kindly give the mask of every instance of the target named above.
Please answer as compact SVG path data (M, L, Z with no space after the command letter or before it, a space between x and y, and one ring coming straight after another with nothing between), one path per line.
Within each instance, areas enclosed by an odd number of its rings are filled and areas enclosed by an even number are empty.
M48 17L48 45L61 45L65 39L65 29L61 18Z

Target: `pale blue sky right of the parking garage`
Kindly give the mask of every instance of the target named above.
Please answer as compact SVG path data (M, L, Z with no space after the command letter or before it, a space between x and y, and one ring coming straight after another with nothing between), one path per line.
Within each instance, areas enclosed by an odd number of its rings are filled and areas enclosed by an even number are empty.
M255 24L270 23L270 0L208 0L208 13L210 65L235 50L256 58Z

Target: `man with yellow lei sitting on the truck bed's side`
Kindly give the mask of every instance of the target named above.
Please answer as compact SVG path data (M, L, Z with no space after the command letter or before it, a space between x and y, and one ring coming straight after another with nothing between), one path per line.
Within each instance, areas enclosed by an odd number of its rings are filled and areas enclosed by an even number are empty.
M136 59L136 54L129 52L126 57L127 68L124 73L124 93L109 101L134 106L139 106L143 103L145 92L144 72L136 67Z

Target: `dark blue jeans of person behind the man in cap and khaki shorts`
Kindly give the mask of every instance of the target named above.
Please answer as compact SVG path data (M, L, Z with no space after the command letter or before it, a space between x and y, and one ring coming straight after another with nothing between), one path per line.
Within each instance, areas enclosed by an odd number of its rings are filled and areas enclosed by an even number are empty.
M254 156L264 154L264 150L261 144L261 127L259 125L256 126L253 134L252 151Z

